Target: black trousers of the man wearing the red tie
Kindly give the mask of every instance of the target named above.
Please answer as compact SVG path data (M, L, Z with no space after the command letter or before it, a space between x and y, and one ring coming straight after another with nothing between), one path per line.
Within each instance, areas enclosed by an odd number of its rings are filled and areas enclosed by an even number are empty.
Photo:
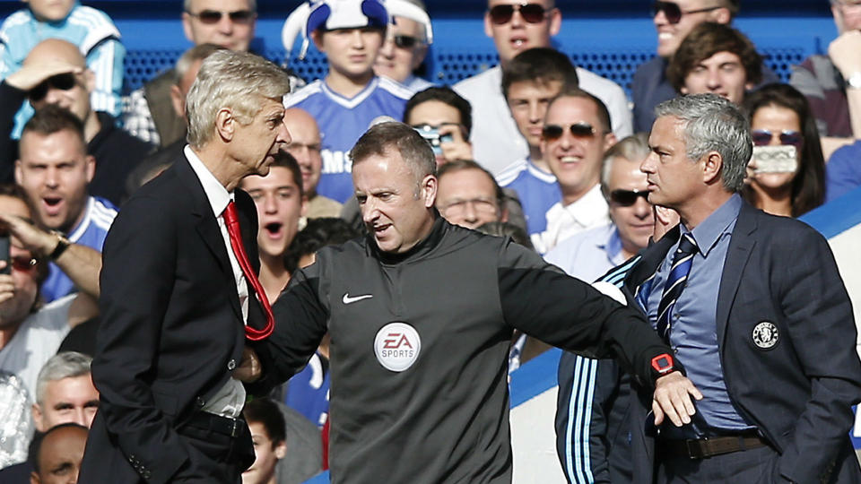
M171 482L187 484L239 484L242 472L254 463L254 444L248 425L239 436L186 425L178 428L187 443L190 461Z

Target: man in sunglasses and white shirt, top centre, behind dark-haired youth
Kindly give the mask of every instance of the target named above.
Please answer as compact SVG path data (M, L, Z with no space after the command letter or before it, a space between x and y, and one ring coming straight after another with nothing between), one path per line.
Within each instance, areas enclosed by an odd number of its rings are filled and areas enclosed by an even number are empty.
M500 65L457 82L454 90L473 107L471 141L475 160L499 176L509 165L529 156L529 145L517 130L502 95L502 68L529 48L550 48L561 29L561 12L554 0L488 0L484 33L493 39ZM615 82L577 68L579 86L601 99L610 110L613 133L631 134L631 110L625 92Z

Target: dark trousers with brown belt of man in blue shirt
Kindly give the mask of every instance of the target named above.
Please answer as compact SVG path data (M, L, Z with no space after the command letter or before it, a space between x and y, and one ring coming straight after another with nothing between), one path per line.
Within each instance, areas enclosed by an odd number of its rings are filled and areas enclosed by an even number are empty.
M663 458L657 468L658 484L786 483L777 469L780 455L771 447L758 447L708 459Z

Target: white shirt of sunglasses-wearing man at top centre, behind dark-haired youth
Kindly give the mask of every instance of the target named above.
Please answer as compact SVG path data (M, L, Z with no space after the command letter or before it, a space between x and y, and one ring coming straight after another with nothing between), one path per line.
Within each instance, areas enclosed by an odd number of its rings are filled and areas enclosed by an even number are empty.
M633 134L631 109L622 87L581 67L577 68L577 75L580 89L604 101L610 112L613 134L620 140ZM470 134L473 157L494 177L511 163L529 156L526 139L517 129L502 95L502 69L499 65L457 82L453 89L473 108L473 131Z

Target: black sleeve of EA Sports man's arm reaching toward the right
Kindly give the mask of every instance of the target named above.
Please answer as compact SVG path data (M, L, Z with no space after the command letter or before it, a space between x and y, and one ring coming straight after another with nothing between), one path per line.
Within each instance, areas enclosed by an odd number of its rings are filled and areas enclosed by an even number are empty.
M642 385L654 385L651 361L671 350L637 310L510 240L500 250L498 277L510 326L563 350L616 358Z

